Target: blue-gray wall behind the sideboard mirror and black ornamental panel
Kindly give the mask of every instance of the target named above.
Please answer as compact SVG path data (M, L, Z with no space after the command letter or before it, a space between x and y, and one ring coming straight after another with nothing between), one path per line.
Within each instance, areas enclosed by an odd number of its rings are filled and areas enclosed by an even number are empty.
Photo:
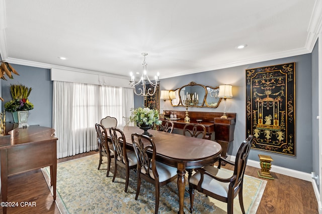
M171 90L194 81L199 84L218 86L231 84L233 98L227 99L227 112L235 112L236 126L234 141L228 150L228 154L235 155L241 142L246 138L246 69L258 68L283 63L295 62L295 156L278 154L274 152L252 149L249 159L259 161L258 154L270 155L273 165L286 167L298 171L310 173L312 170L312 59L311 54L295 57L271 60L250 65L238 66L216 71L207 71L197 74L162 79L160 90ZM317 78L316 78L317 79ZM134 99L136 99L135 96ZM315 101L316 102L316 101ZM169 100L166 101L167 110L181 110L183 107L172 107ZM223 112L223 104L218 108L189 108L189 111ZM316 118L316 116L315 116ZM318 160L318 159L317 159Z

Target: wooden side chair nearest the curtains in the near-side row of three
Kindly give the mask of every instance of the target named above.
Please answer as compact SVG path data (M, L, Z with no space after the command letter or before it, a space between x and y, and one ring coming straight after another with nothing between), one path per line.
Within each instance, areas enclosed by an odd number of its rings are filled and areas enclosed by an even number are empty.
M98 142L99 154L100 154L98 169L100 169L100 167L101 167L101 164L103 161L103 156L107 157L106 177L108 177L109 173L110 173L111 160L112 160L112 158L114 158L113 144L108 142L107 132L106 132L106 129L103 125L96 123L95 129L96 129L97 142Z

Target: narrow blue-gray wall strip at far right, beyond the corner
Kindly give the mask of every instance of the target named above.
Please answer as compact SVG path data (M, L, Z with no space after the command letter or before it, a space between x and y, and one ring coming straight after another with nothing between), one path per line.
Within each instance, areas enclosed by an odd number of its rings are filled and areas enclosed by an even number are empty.
M318 42L312 51L312 171L319 174L318 158ZM315 180L316 185L317 181ZM317 186L317 189L319 187Z

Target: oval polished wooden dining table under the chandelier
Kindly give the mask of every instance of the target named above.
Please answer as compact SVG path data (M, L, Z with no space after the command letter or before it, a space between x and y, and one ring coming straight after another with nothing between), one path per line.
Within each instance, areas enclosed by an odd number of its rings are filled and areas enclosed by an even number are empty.
M126 143L132 145L131 134L142 134L138 127L125 126L120 128L124 132ZM156 148L156 160L177 167L179 211L184 212L185 173L186 169L200 168L216 162L221 153L219 143L201 138L189 137L180 134L149 130L153 136Z

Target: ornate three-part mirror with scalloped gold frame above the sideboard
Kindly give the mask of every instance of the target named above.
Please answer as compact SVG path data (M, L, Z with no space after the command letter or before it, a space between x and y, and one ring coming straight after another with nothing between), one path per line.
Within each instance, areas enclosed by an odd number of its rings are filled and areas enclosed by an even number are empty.
M204 86L190 82L188 85L170 91L173 94L171 105L217 108L221 101L221 98L218 97L218 92L219 87Z

